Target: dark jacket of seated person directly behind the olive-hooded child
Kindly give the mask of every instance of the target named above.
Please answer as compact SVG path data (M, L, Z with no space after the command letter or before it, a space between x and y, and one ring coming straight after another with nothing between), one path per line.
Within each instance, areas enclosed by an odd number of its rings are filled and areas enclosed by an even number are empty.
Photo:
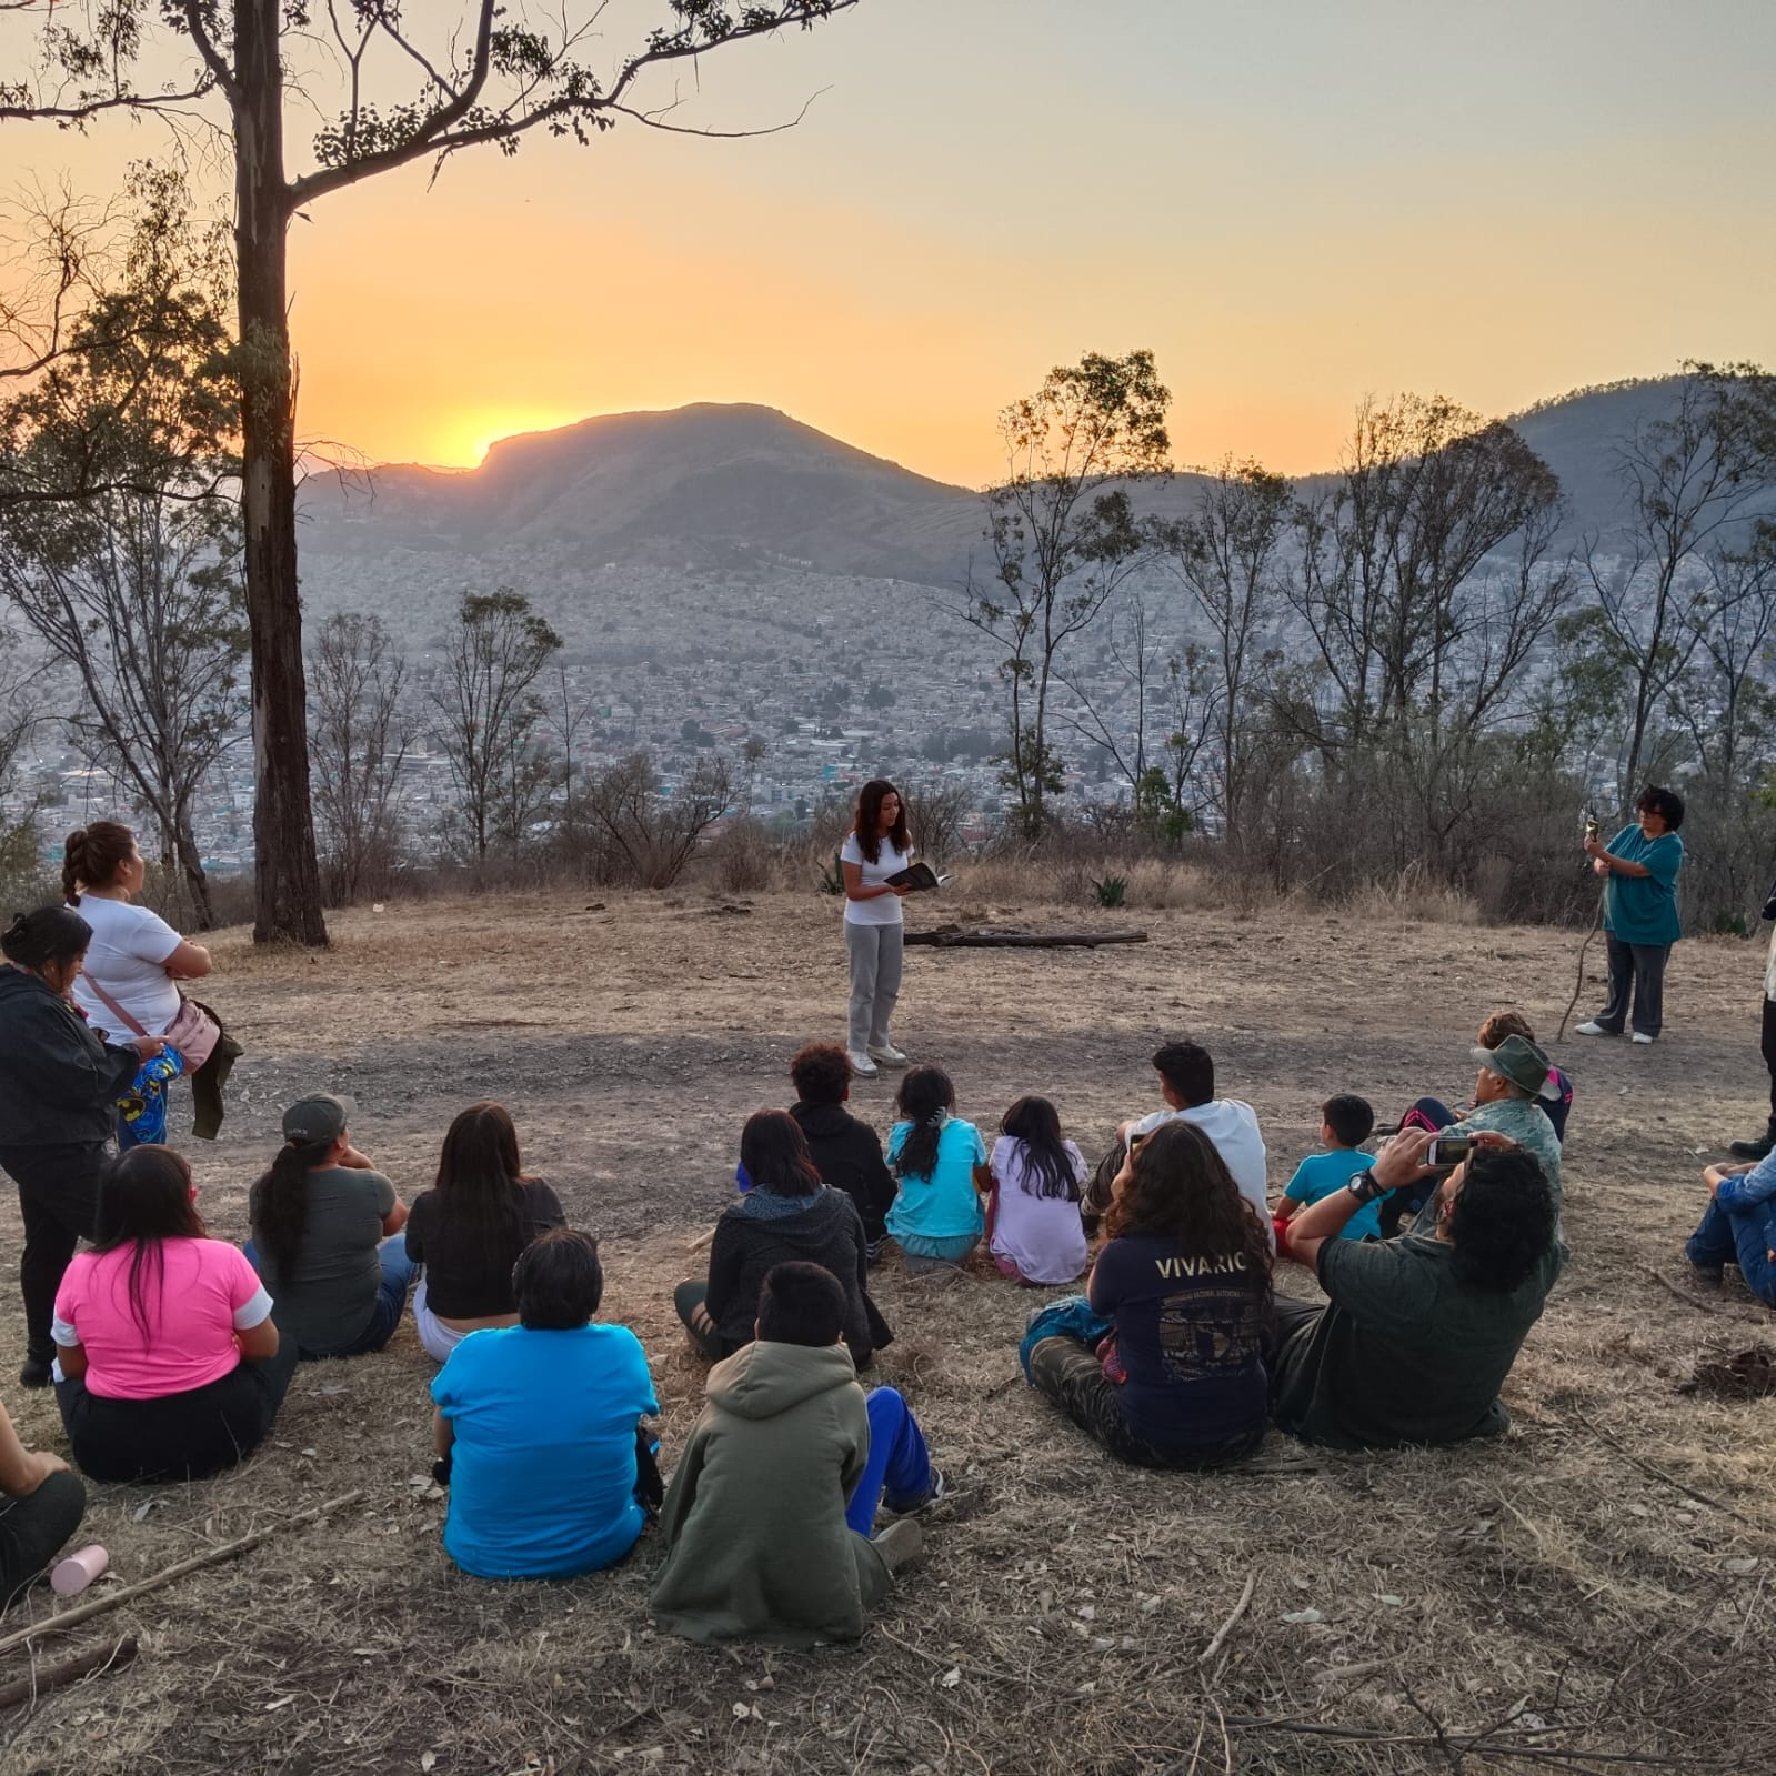
M753 1195L769 1193L755 1188ZM888 1321L870 1300L863 1222L842 1190L821 1190L812 1197L789 1201L797 1204L789 1215L764 1217L741 1201L723 1209L716 1222L703 1305L721 1334L723 1355L732 1357L741 1346L751 1344L765 1272L794 1257L821 1265L838 1277L845 1291L845 1344L851 1360L861 1369L872 1352L893 1339Z

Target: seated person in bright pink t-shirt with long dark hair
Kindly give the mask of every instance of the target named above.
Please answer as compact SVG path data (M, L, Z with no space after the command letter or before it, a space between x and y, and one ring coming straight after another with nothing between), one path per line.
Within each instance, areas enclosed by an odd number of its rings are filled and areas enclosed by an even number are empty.
M211 1240L192 1169L131 1147L99 1185L91 1252L55 1295L57 1401L94 1479L202 1479L250 1455L297 1364L252 1265Z

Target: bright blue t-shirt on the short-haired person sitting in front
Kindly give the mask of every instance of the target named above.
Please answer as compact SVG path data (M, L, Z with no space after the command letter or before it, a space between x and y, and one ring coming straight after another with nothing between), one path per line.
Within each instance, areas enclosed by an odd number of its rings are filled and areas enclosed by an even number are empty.
M464 1572L570 1579L636 1545L636 1421L659 1401L629 1327L471 1332L432 1399L456 1431L444 1552Z

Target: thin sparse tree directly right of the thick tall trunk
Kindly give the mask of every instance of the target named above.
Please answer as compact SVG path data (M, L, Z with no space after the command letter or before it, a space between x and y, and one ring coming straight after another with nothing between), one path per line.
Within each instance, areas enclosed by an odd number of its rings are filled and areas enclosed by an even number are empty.
M414 721L407 661L380 616L336 611L309 650L309 744L321 860L334 906L352 906L394 863L400 781Z

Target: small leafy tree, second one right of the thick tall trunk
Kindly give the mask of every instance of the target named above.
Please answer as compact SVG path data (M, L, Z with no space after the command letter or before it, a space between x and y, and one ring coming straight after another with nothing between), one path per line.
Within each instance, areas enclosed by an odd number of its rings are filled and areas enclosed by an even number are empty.
M522 593L501 588L462 600L432 703L478 863L496 838L517 849L538 799L531 737L543 705L531 687L559 648L561 638Z

